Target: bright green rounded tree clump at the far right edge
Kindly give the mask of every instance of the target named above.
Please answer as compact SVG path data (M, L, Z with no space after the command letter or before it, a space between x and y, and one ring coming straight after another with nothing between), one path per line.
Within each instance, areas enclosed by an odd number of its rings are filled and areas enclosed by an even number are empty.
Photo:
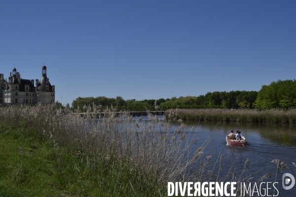
M262 86L255 103L259 109L296 107L296 81L278 80Z

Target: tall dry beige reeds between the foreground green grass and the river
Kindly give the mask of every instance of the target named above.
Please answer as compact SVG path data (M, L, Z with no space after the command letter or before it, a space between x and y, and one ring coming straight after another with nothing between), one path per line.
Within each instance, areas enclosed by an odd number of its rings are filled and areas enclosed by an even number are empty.
M89 112L90 107L81 117L69 109L56 109L54 105L8 106L0 108L0 122L25 124L37 132L36 136L45 136L55 147L67 146L76 153L91 151L128 161L140 174L153 177L159 183L179 180L199 158L198 152L194 158L188 158L194 139L185 135L182 123L172 133L170 124L151 114L148 115L150 122L141 122L141 119L135 122L129 114L115 117L111 109L106 109L98 120ZM87 162L92 162L90 169L96 165L95 160Z

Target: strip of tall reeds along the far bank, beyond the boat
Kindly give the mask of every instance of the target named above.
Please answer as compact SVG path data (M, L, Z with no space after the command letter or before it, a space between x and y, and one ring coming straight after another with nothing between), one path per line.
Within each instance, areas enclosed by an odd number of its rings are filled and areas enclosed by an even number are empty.
M259 123L296 123L296 109L170 109L167 119Z

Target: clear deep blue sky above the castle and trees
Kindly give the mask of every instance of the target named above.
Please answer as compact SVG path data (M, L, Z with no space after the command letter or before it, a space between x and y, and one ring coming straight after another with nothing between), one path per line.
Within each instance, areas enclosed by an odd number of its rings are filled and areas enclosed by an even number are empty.
M296 78L296 0L0 0L0 73L56 100L259 91Z

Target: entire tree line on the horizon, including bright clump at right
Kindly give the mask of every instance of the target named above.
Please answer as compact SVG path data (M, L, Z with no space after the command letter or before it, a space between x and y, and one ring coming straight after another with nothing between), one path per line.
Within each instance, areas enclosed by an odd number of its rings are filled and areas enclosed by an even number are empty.
M296 81L278 80L270 85L263 85L257 91L208 92L198 97L173 97L171 99L124 100L122 97L78 97L72 102L72 109L82 109L84 106L116 107L118 111L146 111L167 109L197 109L197 108L289 108L296 107Z

